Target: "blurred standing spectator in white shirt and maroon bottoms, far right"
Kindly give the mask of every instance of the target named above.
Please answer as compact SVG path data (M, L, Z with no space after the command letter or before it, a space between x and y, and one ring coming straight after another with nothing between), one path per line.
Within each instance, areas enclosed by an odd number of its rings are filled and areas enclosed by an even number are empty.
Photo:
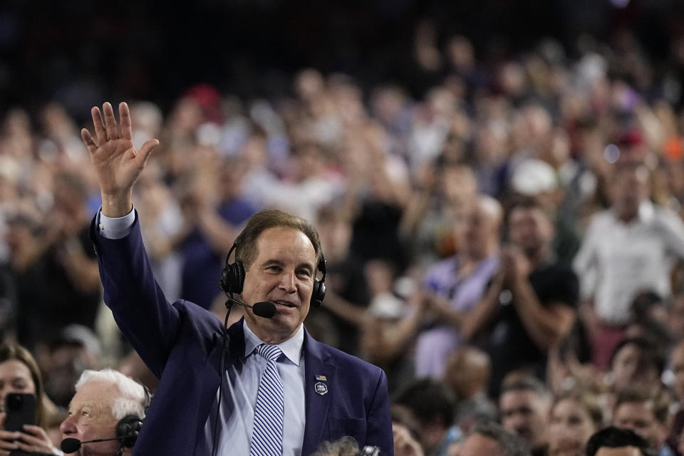
M624 335L638 291L670 296L673 259L684 258L684 224L648 200L649 172L622 162L612 177L613 205L596 214L574 259L583 299L596 314L591 324L594 363L608 356Z

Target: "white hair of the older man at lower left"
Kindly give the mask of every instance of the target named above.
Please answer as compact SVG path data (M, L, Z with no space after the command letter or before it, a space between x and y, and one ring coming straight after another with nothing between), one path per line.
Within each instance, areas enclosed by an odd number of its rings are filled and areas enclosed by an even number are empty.
M76 382L76 391L91 382L104 382L116 385L119 394L112 401L112 415L117 420L127 415L135 415L141 420L145 418L145 409L149 405L150 395L141 383L113 369L90 371L86 369Z

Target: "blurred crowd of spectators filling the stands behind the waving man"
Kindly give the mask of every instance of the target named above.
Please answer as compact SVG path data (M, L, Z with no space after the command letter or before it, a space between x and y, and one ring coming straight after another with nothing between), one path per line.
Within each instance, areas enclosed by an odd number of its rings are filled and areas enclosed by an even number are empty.
M396 454L485 454L467 436L510 432L534 455L583 455L613 424L680 455L679 39L665 66L627 32L484 63L465 36L442 51L419 29L419 99L307 68L269 99L197 85L170 112L127 100L135 144L160 140L134 195L157 281L222 318L234 237L284 209L327 259L306 328L385 370ZM154 390L102 302L90 125L58 103L0 123L1 337L36 358L56 416L85 369Z

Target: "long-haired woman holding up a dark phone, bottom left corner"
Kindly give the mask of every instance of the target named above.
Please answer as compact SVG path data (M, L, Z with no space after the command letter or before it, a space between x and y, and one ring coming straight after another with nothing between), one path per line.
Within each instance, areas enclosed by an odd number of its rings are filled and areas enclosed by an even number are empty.
M26 423L24 430L6 430L8 411L6 397L10 393L35 395L35 423ZM43 378L36 360L26 348L14 343L0 344L0 456L13 451L62 455L45 430L48 398L43 390Z

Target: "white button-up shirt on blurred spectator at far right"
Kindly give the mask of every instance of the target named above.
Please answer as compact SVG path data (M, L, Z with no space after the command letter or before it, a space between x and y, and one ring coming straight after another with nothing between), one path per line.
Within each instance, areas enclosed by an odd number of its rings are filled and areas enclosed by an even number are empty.
M619 326L628 323L639 291L670 296L670 272L675 260L683 258L683 222L646 201L628 223L611 209L596 214L573 266L582 297L593 299L602 321Z

